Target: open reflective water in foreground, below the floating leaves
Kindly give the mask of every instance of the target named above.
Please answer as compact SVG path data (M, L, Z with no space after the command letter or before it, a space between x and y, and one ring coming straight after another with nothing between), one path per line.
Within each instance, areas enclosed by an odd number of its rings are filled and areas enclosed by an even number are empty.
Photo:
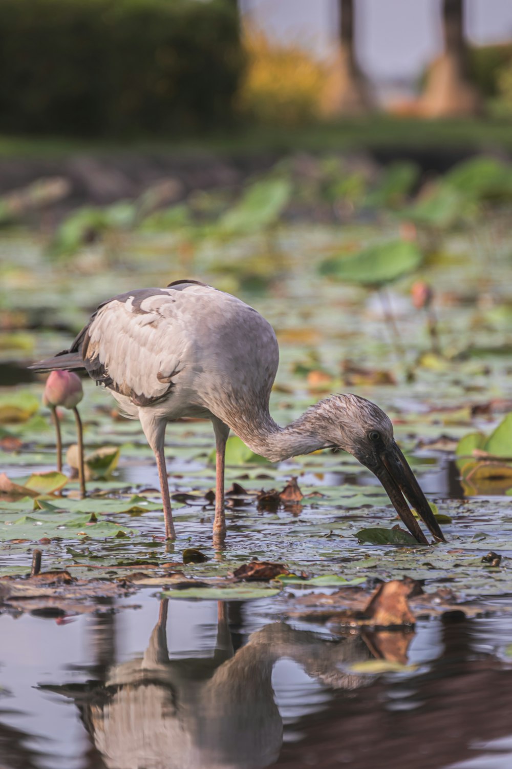
M510 767L510 618L332 635L272 601L97 609L0 617L2 769ZM379 635L408 669L357 672Z

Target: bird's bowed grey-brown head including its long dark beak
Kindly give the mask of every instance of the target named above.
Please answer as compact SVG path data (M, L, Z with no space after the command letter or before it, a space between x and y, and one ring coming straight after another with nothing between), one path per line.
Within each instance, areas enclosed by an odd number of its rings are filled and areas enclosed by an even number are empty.
M334 395L316 405L322 434L335 448L353 454L381 481L395 510L415 538L427 543L406 499L436 541L444 536L404 454L395 443L388 415L375 403L358 395Z

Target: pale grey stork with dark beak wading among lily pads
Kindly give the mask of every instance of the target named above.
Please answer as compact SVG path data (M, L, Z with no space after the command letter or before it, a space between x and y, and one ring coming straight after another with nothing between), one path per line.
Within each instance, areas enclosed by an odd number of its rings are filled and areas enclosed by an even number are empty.
M167 538L175 534L165 429L180 417L200 417L212 421L216 438L214 534L226 531L224 454L233 430L273 462L321 448L349 451L381 481L418 542L427 539L405 498L434 539L444 541L384 411L357 395L332 395L279 427L269 412L278 362L273 328L255 309L223 291L183 280L108 299L69 350L31 368L85 368L111 391L125 416L140 420L157 460Z

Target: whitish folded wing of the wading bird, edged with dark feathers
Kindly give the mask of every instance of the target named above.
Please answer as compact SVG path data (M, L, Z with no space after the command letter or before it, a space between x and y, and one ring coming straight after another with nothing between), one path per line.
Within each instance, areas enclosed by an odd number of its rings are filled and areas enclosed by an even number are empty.
M97 309L70 352L80 351L97 382L137 406L173 388L190 341L172 288L145 288L116 296Z

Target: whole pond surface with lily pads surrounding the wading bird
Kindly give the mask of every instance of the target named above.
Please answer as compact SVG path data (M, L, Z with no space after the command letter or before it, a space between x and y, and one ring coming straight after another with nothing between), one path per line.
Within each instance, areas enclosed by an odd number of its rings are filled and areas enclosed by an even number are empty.
M87 450L120 448L119 464L89 481L85 501L74 479L61 497L43 500L46 507L0 500L0 576L23 578L38 548L43 571L108 584L138 573L154 582L57 615L44 606L0 611L1 769L512 765L512 478L476 481L454 456L460 438L491 434L510 411L504 221L427 233L420 277L436 291L444 355L430 355L425 317L412 307L405 278L391 293L401 360L372 291L327 281L318 270L325 256L397 238L392 217L364 227L297 223L272 237L221 242L117 231L68 261L48 258L44 232L2 237L2 397L33 399L30 414L0 433L8 438L0 469L9 478L55 469L42 384L29 380L26 365L67 347L104 298L190 276L233 291L273 323L281 364L271 407L280 424L336 391L354 391L390 414L445 516L448 542L361 544L358 531L391 528L395 511L352 457L323 452L276 465L232 454L226 486L243 491L230 498L226 544L214 546L206 497L213 433L210 424L187 422L167 433L177 541L165 544L157 472L140 426L112 414L113 401L84 381ZM63 414L62 431L66 446L76 440L71 414ZM258 503L256 492L282 489L292 477L305 495L299 503ZM183 564L188 548L208 560ZM501 555L499 567L482 563L489 551ZM183 597L166 582L180 572L227 583L253 558L328 581L362 581L368 594L379 581L407 575L427 592L449 588L455 600L485 608L477 618L420 619L414 632L336 634L291 618L296 595L319 588L258 584L263 598L217 602ZM170 598L162 598L164 587Z

